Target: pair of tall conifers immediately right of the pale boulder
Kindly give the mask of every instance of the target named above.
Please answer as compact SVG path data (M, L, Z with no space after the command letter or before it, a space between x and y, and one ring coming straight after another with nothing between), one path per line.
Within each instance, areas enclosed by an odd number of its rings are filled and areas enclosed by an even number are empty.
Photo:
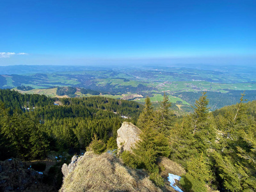
M140 140L133 149L137 163L150 172L150 180L157 186L163 186L164 182L159 175L156 159L159 156L168 157L170 155L168 138L164 136L170 126L168 122L170 118L167 117L167 115L170 115L168 100L164 100L163 106L163 113L159 113L162 118L159 118L156 111L153 111L150 99L147 97L145 108L138 119L138 126L142 128Z

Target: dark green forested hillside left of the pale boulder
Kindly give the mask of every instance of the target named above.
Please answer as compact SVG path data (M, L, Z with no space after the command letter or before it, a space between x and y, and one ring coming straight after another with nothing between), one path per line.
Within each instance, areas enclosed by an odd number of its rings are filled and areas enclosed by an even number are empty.
M43 159L49 150L79 153L96 134L105 143L116 138L124 121L136 122L143 106L127 100L87 97L54 99L0 90L0 157Z

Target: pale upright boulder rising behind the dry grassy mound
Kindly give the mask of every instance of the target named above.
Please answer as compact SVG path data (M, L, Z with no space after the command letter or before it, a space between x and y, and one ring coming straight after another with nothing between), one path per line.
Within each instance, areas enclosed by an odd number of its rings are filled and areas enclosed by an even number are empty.
M121 154L124 150L132 152L134 143L140 140L141 130L129 122L124 122L120 129L117 130L116 143L118 147L118 154Z

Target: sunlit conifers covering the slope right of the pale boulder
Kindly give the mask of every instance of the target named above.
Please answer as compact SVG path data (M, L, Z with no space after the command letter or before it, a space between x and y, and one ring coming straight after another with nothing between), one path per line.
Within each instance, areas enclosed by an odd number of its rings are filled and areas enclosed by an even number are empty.
M134 154L122 154L124 162L145 168L158 186L157 157L166 156L186 168L180 180L185 191L255 191L256 101L244 104L243 96L235 106L209 113L204 92L193 113L176 119L168 97L158 110L147 98L138 119L141 141Z

